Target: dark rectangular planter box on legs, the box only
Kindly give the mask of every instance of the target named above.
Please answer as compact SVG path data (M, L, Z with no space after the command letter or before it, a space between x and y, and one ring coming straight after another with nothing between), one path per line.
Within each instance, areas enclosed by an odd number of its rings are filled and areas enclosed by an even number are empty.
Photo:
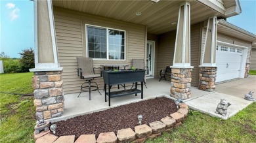
M133 82L143 82L145 70L137 71L103 71L104 84L112 86L114 84L125 84Z

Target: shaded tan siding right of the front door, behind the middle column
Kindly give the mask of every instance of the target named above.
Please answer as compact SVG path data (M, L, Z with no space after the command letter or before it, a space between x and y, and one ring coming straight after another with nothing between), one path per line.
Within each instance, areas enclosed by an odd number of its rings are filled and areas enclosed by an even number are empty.
M190 61L191 65L194 66L191 85L198 86L198 65L200 65L200 24L191 25L190 34ZM173 65L175 37L176 31L171 31L158 36L158 71L165 69L166 66ZM159 74L158 78L160 78ZM171 77L168 77L169 80L170 78Z

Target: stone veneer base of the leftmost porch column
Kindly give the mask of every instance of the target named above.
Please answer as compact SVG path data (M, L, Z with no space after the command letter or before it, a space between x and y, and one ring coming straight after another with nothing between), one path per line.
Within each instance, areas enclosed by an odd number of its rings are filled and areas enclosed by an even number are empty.
M62 116L64 94L62 71L33 72L33 94L37 119L51 119Z

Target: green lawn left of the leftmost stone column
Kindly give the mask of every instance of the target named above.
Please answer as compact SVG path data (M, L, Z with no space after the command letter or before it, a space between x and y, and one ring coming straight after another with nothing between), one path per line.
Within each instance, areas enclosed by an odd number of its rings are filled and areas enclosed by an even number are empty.
M0 74L0 91L33 93L32 72ZM0 142L34 142L33 97L0 93Z

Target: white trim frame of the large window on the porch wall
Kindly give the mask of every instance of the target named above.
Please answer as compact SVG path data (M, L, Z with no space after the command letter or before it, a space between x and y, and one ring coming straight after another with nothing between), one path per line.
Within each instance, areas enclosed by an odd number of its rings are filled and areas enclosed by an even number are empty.
M111 28L111 27L104 27L104 26L98 26L98 25L92 25L92 24L85 24L85 54L87 57L89 57L89 48L88 48L88 39L87 39L87 26L92 26L92 27L98 27L98 28L104 28L106 29L106 49L107 49L107 58L106 59L99 59L99 58L93 58L93 60L97 61L126 61L126 31L121 30L121 29L116 29L116 28ZM108 29L113 29L113 30L118 30L118 31L123 31L125 33L125 43L124 43L124 59L108 59L109 58L109 51L108 51Z

